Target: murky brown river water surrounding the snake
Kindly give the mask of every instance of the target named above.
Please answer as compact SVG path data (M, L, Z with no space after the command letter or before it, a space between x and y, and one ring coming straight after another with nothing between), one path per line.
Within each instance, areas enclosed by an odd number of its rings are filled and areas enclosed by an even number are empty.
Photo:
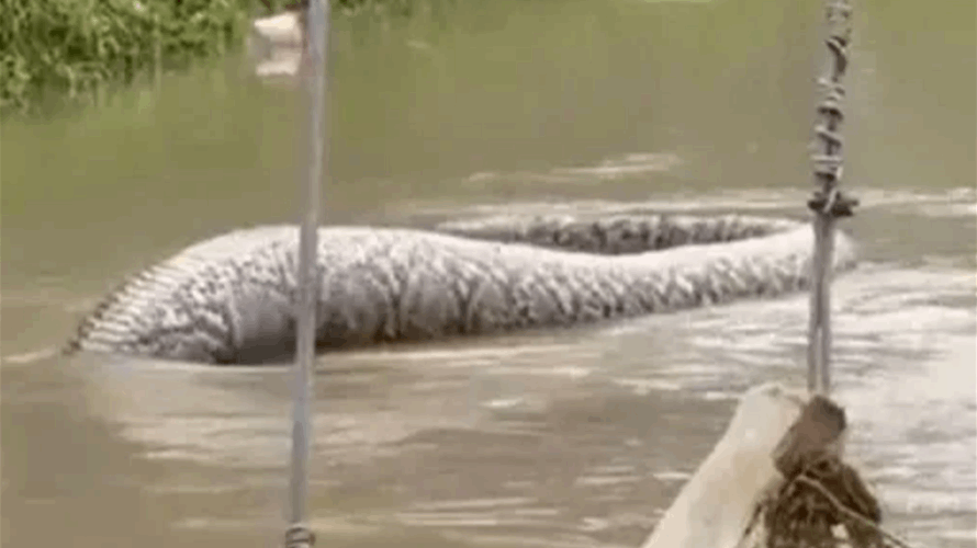
M459 2L461 3L461 2ZM469 2L334 43L328 220L802 216L818 2ZM856 2L836 398L890 526L977 545L975 5ZM228 60L2 128L4 546L272 546L288 372L52 357L124 275L295 218L297 95ZM319 359L321 546L635 547L752 384L804 381L805 295Z

